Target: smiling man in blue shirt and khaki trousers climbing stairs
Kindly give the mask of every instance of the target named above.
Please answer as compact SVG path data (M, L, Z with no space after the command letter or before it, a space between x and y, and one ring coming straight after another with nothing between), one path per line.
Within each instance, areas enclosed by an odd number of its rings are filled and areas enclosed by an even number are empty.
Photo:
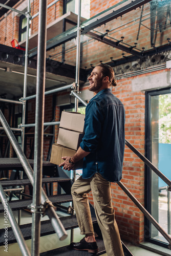
M86 107L84 137L72 157L59 166L71 170L83 158L82 176L72 186L72 196L80 233L86 235L76 250L97 253L88 193L92 191L94 208L108 256L123 256L123 249L111 198L111 183L121 179L124 154L125 111L111 92L116 86L114 71L108 65L96 66L88 78L89 90L96 93Z

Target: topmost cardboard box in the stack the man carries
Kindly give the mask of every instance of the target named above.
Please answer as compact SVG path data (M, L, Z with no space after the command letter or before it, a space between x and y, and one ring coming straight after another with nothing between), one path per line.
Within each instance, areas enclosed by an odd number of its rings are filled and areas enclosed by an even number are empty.
M84 118L85 115L77 112L62 111L59 127L83 133Z

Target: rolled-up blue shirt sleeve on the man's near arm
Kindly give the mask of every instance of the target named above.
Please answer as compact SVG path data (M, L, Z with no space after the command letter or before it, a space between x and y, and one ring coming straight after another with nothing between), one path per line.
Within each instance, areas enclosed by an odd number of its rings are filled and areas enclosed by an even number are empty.
M96 101L89 102L86 108L84 122L85 134L80 143L82 150L86 152L95 152L100 146L102 123L102 108Z

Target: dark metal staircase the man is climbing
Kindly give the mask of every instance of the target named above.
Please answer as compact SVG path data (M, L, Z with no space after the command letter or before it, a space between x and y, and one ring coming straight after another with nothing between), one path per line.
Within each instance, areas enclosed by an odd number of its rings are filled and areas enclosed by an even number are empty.
M33 160L29 160L30 165L33 167ZM20 164L19 160L17 158L0 158L0 171L4 170L23 170L22 165ZM65 194L61 195L53 195L49 196L49 200L53 203L54 206L60 207L60 204L72 202L72 196L71 196L71 186L72 181L67 176L67 174L58 166L51 164L50 162L44 161L43 162L43 170L42 174L46 176L51 176L50 178L42 178L42 184L52 184L57 182L60 187L65 191ZM26 186L30 185L30 181L28 179L15 179L15 180L2 180L1 184L3 188L9 188L9 187L16 187L16 186ZM32 203L32 199L22 199L22 200L15 200L10 201L10 207L13 211L15 210L21 210L21 209L28 209L28 205ZM101 238L101 232L99 230L97 219L95 217L94 208L90 205L91 212L92 212L92 221L94 225L94 230L97 233L98 237L96 238L99 252L94 255L101 255L105 253L104 244ZM0 203L0 212L4 211L4 207L2 203ZM75 215L69 215L67 217L60 217L60 221L65 227L66 230L71 230L78 227L78 223L76 220ZM31 239L31 223L20 225L20 230L23 233L24 239L29 240ZM54 233L54 229L51 225L50 220L41 221L41 236L47 236L49 234ZM16 243L16 238L14 236L14 233L12 231L12 228L8 228L8 244ZM0 229L0 246L4 245L4 231L3 229ZM125 256L131 256L132 253L126 248L126 246L122 243L124 255ZM47 251L44 253L41 253L40 255L88 255L88 252L86 251L77 251L72 250L68 246L60 247L51 251Z

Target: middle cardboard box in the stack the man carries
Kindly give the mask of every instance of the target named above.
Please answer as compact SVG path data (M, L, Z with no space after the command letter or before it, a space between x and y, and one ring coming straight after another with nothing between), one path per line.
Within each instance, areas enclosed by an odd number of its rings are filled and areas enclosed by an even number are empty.
M69 147L72 150L77 150L83 136L84 133L59 128L57 144Z

